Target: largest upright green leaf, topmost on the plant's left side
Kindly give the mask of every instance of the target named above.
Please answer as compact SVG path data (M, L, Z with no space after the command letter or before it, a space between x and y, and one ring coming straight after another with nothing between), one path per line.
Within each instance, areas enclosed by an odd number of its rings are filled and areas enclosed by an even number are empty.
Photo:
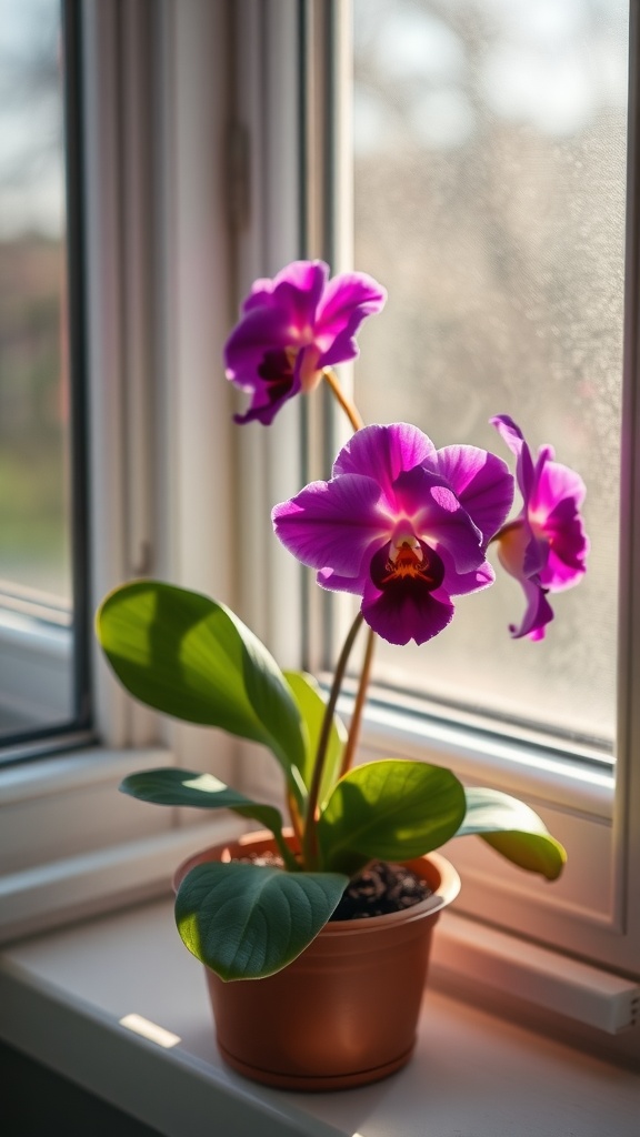
M274 754L298 803L306 745L300 712L266 648L224 605L159 581L112 592L97 631L131 695L177 719L219 727Z

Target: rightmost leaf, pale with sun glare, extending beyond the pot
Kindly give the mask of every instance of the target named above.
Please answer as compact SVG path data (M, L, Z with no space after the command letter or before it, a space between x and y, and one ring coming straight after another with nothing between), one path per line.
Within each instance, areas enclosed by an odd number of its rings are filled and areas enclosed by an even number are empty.
M467 813L457 837L477 833L503 857L547 880L557 880L567 854L524 802L497 789L465 790Z

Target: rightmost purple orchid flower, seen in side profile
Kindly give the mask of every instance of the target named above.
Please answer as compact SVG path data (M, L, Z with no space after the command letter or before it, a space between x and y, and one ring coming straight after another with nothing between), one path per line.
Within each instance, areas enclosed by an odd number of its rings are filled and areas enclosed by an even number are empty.
M584 482L553 460L550 446L540 448L534 465L519 426L508 415L498 415L491 423L516 456L523 495L522 513L497 537L500 562L520 582L526 599L520 625L510 624L509 631L515 639L540 640L553 619L547 594L572 588L586 571L589 538L580 516Z

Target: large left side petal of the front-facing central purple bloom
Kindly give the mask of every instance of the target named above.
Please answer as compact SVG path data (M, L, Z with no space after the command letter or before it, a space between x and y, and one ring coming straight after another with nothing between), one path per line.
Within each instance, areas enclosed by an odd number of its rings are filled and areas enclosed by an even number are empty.
M378 507L379 497L377 483L358 474L311 482L296 497L276 506L273 528L303 564L362 582L368 573L364 553L371 542L381 545L391 536L388 518Z

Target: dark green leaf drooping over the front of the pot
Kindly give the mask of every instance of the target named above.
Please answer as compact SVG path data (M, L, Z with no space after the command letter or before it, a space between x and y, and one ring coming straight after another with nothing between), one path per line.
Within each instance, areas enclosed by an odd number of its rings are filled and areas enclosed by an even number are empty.
M182 881L175 921L192 955L221 979L260 979L315 939L346 885L339 873L208 862Z

